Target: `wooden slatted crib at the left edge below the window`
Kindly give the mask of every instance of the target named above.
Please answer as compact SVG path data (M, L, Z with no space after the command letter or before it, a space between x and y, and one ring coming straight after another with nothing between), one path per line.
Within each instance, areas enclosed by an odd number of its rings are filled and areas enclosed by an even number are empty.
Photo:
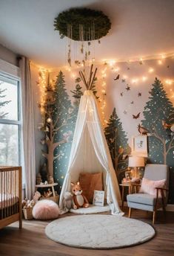
M21 220L21 167L0 167L0 228Z

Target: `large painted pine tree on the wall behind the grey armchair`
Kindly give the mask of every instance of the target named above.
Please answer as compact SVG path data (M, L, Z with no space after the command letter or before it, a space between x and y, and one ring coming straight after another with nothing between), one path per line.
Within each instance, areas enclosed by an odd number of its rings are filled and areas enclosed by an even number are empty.
M146 127L150 136L148 136L149 157L148 160L154 164L167 164L170 167L170 198L174 188L174 135L170 129L164 129L163 121L170 123L174 120L173 104L164 91L164 86L160 80L155 78L155 82L150 90L149 101L144 107L144 120L141 121ZM170 123L171 124L171 123Z

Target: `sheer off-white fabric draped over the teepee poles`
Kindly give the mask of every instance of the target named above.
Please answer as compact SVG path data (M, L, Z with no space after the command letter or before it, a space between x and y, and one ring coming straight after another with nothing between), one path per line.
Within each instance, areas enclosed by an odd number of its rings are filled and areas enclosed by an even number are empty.
M70 182L78 181L79 173L98 171L103 172L104 191L112 214L123 215L118 205L121 201L118 181L98 116L96 99L93 92L87 90L81 96L70 161L61 189L59 207L63 209L64 193L70 191Z

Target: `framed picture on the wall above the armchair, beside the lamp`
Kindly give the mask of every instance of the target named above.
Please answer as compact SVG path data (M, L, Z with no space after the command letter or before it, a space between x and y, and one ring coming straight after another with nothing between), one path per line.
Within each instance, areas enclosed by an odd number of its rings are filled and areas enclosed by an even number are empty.
M133 155L147 157L147 135L137 135L132 138Z

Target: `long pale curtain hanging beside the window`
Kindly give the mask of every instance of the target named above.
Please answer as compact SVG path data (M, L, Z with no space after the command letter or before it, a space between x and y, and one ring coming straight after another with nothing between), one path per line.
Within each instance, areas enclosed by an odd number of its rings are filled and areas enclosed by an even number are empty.
M30 79L30 63L26 57L19 61L21 72L21 112L23 167L25 175L25 196L33 198L36 185L33 88Z

